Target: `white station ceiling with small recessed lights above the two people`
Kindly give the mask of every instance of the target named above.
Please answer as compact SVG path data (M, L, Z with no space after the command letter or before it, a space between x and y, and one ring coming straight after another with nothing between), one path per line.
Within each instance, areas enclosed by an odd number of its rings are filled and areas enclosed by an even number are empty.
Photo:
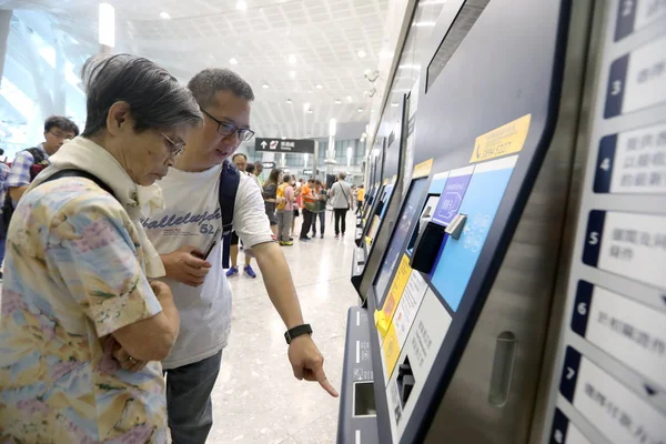
M56 0L40 1L40 4L51 2L54 4ZM14 3L18 3L14 9L21 9L21 4L34 8L31 6L34 2L30 0L14 0ZM63 3L58 4L60 13L62 17L69 16L68 20L97 22L97 10L87 12L80 2L60 3ZM78 7L73 3L78 3ZM370 87L363 78L363 71L366 68L374 70L382 57L382 49L385 49L382 43L389 0L283 3L275 0L244 0L248 7L245 11L238 10L238 3L236 0L168 0L161 3L162 11L151 0L114 0L117 16L131 17L119 23L118 39L131 41L132 48L128 47L127 50L155 60L182 81L188 81L200 69L215 64L238 70L255 91L262 92L258 94L252 118L254 122L265 122L263 128L266 131L275 131L265 133L266 137L305 137L305 131L311 131L312 137L325 137L331 118L340 122L367 119L367 112L356 111L357 108L370 110L372 104L372 99L362 97ZM167 12L172 18L168 26L160 12ZM431 8L427 8L427 12L414 20L434 20ZM95 41L97 29L90 28L77 29L75 32L72 29L70 32L75 34L78 41ZM416 29L418 32L428 31ZM192 51L192 48L206 49ZM359 57L361 50L365 52L365 58ZM293 54L293 63L290 63L289 54ZM239 63L233 65L232 59ZM290 71L296 74L290 74ZM263 90L263 83L270 85L268 91ZM317 90L316 84L322 84L322 90ZM352 101L347 101L346 95L352 95ZM293 104L286 103L287 99ZM336 100L342 103L335 103ZM303 124L305 117L301 110L305 101L311 102L310 109L313 111L306 114L307 125ZM259 105L260 102L265 103ZM287 128L287 124L295 127ZM324 134L317 134L320 129Z

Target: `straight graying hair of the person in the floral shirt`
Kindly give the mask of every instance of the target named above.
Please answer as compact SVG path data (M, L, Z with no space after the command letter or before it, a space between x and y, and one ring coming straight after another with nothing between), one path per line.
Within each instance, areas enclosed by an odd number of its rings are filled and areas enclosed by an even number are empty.
M164 68L131 54L99 54L85 61L81 79L87 94L83 137L107 128L109 110L127 102L134 130L199 124L203 117L192 93Z

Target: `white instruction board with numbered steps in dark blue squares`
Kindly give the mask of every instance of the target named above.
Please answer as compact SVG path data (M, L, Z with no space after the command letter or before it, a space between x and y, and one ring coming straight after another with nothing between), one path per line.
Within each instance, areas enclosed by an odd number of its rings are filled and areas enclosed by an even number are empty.
M666 4L599 4L542 443L666 442Z

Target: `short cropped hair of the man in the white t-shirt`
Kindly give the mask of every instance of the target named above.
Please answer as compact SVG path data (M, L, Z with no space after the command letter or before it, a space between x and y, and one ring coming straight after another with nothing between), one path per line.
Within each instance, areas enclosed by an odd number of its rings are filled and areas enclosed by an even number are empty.
M231 91L241 99L254 100L252 87L242 77L226 68L208 68L188 83L200 107L209 107L218 91Z

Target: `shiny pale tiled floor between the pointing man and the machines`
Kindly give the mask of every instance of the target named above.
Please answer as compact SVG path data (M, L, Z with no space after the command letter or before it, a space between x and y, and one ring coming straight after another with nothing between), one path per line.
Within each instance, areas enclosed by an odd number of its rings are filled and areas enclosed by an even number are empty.
M313 326L313 337L326 360L326 374L337 389L346 312L357 303L349 279L353 221L350 213L344 240L333 239L327 218L324 239L307 243L296 240L293 246L284 248L305 321ZM209 443L334 443L337 400L316 383L294 379L286 359L284 325L259 270L258 274L255 280L244 275L231 279L233 327L213 392L214 424Z

